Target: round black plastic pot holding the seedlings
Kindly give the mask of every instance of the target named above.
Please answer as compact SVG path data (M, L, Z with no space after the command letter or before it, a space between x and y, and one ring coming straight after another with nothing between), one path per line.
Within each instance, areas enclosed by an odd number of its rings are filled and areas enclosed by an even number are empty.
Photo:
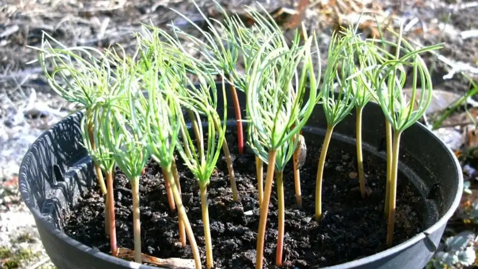
M232 104L229 89L227 92L228 104ZM240 103L245 104L244 95L238 94ZM221 91L219 100L222 100ZM82 115L79 112L67 117L42 134L31 145L20 166L20 192L35 217L43 245L59 269L152 269L109 256L62 233L60 212L75 206L78 198L96 184L92 161L80 143ZM235 128L234 115L230 105L231 128ZM384 121L376 104L365 107L363 150L383 161L386 159ZM303 131L322 140L325 128L323 110L317 106ZM355 148L355 115L350 115L335 128L334 141ZM461 199L463 175L460 164L441 140L420 124L402 134L400 150L399 169L411 178L427 201L423 212L427 216L428 229L391 249L329 269L421 269L436 251L447 221Z

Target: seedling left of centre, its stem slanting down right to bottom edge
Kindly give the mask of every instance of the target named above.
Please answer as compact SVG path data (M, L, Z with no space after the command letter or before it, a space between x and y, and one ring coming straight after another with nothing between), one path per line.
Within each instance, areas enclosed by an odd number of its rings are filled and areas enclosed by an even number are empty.
M140 44L143 44L140 40ZM199 251L188 221L186 211L181 201L181 185L174 161L174 151L179 134L180 115L174 95L176 89L183 87L180 81L174 79L175 70L171 58L174 55L165 53L162 42L153 39L148 46L149 55L141 55L144 87L146 97L140 97L140 107L145 121L141 122L151 157L160 165L167 188L168 202L178 206L179 239L182 247L186 246L186 233L190 237L193 256L196 265L200 266ZM161 74L158 76L158 74ZM171 195L171 197L169 197ZM170 201L170 198L174 199ZM186 232L186 228L187 231Z

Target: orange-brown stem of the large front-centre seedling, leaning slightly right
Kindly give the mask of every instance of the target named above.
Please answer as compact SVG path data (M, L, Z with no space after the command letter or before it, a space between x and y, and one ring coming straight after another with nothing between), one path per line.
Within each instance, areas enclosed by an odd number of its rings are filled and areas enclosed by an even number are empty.
M260 204L260 219L259 219L259 231L257 232L257 248L255 255L255 269L262 269L263 257L264 257L264 239L265 239L265 226L267 224L267 214L269 212L270 192L272 191L272 183L274 179L275 169L275 157L277 151L269 151L269 161L267 164L267 173L265 176L265 189L262 203Z

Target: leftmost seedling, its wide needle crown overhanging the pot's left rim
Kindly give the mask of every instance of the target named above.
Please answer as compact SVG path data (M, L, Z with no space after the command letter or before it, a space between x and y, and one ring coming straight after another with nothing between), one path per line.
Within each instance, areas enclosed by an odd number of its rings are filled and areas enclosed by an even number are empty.
M47 39L57 47L54 48ZM42 34L41 46L31 48L39 51L38 60L51 89L63 99L80 105L79 110L86 110L84 117L87 118L91 149L95 151L97 145L93 135L94 126L93 121L89 120L92 117L92 106L109 91L114 81L107 55L87 46L67 48L45 32ZM102 194L106 196L107 186L100 164L96 160L94 167ZM110 221L107 201L108 199L105 199L105 233L108 235Z

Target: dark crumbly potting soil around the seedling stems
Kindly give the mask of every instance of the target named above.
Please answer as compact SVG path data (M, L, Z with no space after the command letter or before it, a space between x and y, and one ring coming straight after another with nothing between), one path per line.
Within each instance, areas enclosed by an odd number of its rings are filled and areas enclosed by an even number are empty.
M231 128L235 129L235 128ZM292 165L284 170L285 237L282 268L311 268L337 265L387 249L387 225L383 217L385 161L364 152L364 169L369 196L362 199L354 147L342 150L332 141L323 179L321 222L314 219L315 182L322 139L306 137L307 160L300 170L303 207L296 207ZM236 132L228 131L232 153L237 151ZM209 186L209 214L215 268L245 269L255 265L259 223L255 161L251 153L233 154L240 202L234 202L228 170L219 159ZM290 161L292 162L292 161ZM206 265L199 187L196 179L177 158L183 203ZM161 169L150 161L140 179L141 251L158 258L193 259L189 244L178 243L178 218L170 212ZM266 166L264 166L264 177ZM118 246L133 249L130 183L119 170L115 175L115 208ZM264 268L275 269L277 240L277 196L271 195L264 249ZM394 245L415 236L422 227L422 199L399 173ZM80 200L64 216L64 231L76 240L110 252L105 236L104 200L99 188Z

